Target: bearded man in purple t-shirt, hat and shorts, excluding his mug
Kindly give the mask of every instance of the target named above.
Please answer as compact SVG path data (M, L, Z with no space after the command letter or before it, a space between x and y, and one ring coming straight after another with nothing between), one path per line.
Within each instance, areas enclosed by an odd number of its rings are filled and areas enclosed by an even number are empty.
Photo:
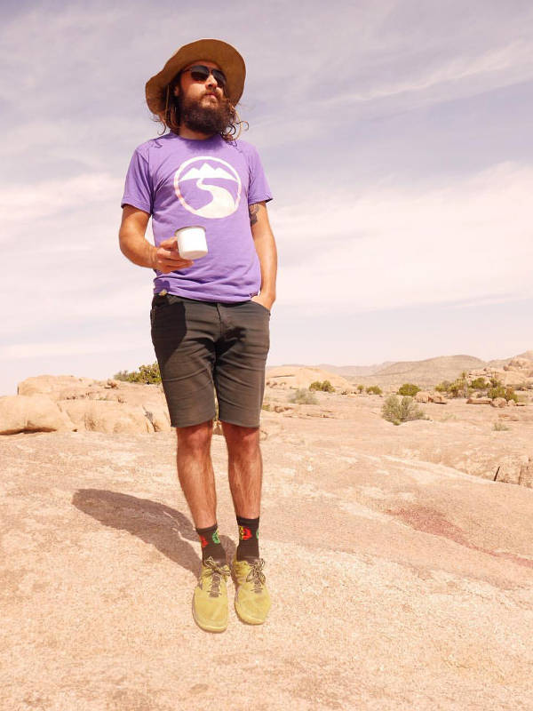
M193 613L211 632L227 627L232 571L239 617L261 624L270 609L259 557L259 414L277 257L259 155L233 138L244 77L234 47L203 39L181 47L147 82L148 108L170 131L135 150L119 233L123 254L155 270L152 341L176 427L179 483L202 546ZM155 245L145 238L150 216ZM208 245L194 261L180 257L173 236L191 226L205 229ZM210 453L215 390L239 530L232 571L219 540Z

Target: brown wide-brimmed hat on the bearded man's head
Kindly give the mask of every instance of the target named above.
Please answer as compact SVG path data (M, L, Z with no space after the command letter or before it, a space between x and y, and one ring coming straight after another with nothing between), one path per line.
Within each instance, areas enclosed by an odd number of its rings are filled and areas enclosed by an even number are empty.
M153 114L162 114L166 108L167 87L179 72L194 61L208 60L219 65L227 78L225 92L234 106L243 95L246 67L243 57L235 47L219 39L199 39L184 44L172 54L163 69L147 81L147 105Z

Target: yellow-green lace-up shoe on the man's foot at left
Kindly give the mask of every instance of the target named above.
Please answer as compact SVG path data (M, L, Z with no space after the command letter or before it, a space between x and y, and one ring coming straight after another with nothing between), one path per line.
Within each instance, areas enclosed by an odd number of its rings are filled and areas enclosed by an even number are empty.
M202 563L193 595L193 617L198 627L207 632L224 632L227 627L226 580L229 566L221 565L210 556Z

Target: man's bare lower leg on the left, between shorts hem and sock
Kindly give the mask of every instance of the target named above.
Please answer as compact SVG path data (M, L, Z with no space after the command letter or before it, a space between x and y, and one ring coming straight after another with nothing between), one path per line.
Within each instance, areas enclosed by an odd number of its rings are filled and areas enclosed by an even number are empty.
M192 427L177 427L178 477L196 528L217 521L217 492L211 462L212 420Z

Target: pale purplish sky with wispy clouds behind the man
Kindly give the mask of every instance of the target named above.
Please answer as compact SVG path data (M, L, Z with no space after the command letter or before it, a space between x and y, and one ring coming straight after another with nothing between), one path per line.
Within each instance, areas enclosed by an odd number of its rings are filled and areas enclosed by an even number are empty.
M269 365L533 348L533 4L9 2L0 26L0 395L155 361L153 272L118 248L144 85L243 54L274 194ZM147 237L152 239L151 229Z

